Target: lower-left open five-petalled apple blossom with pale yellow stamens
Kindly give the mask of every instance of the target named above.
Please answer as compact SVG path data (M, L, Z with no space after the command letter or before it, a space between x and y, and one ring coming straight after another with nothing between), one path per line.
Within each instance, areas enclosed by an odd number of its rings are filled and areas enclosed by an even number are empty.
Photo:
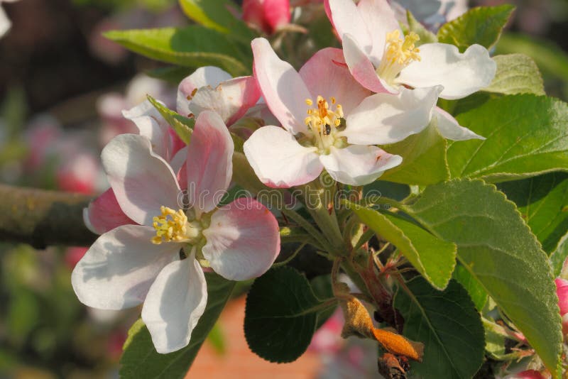
M187 346L204 312L201 260L226 279L246 280L266 272L280 251L278 222L262 204L239 198L217 208L231 181L233 150L222 119L202 112L187 148L189 209L180 209L178 177L148 138L123 134L103 150L116 202L136 224L99 236L73 270L72 285L89 307L143 302L159 353ZM180 260L180 249L187 258Z

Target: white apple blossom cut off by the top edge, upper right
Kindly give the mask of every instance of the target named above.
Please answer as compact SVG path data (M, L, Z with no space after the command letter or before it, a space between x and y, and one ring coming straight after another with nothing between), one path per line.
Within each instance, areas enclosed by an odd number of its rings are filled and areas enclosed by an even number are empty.
M471 45L464 53L447 43L417 48L420 38L413 32L403 35L386 0L326 2L349 70L373 92L442 85L439 97L460 99L487 87L495 76L496 63L481 45Z

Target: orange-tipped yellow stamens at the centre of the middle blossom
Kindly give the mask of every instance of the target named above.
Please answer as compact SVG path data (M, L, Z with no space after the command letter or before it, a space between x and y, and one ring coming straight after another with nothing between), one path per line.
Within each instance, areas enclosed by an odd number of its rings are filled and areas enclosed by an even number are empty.
M304 122L310 131L312 131L312 143L319 149L320 154L329 153L329 147L337 145L338 141L335 138L337 128L342 125L343 108L341 104L337 104L334 97L330 98L332 106L322 96L316 99L316 106L312 99L306 99L306 104L310 106L307 109L307 117Z

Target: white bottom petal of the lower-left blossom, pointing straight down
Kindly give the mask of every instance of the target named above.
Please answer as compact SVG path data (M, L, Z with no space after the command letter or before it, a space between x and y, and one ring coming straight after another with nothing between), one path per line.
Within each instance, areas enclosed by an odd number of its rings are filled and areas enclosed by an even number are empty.
M195 253L165 266L142 308L155 350L165 354L187 346L206 305L207 282Z

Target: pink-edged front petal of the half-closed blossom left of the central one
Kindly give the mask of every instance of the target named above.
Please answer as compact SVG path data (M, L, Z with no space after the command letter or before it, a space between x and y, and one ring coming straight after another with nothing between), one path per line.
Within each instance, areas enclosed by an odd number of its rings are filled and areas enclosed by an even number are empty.
M205 86L197 89L189 103L189 109L196 116L202 111L216 111L229 126L256 104L259 97L261 91L254 77L236 77L220 83L217 87Z

